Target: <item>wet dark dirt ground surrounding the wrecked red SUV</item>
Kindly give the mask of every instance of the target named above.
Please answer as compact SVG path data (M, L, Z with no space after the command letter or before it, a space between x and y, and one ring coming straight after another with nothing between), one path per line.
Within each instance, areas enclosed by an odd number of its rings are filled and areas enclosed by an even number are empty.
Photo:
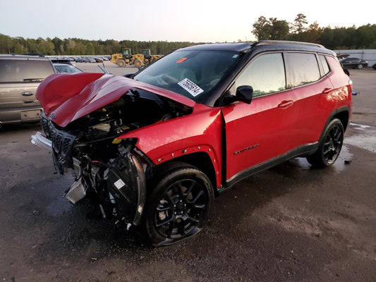
M376 281L376 71L351 79L359 93L334 166L293 159L243 180L216 198L204 231L169 247L63 198L71 176L29 142L40 125L2 128L0 281Z

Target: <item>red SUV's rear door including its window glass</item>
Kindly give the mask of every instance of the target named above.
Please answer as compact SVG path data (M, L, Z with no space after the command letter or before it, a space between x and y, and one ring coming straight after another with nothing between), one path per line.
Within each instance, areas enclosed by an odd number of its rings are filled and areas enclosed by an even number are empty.
M325 56L308 52L286 52L287 87L294 99L293 147L317 142L335 109L330 95L332 82Z

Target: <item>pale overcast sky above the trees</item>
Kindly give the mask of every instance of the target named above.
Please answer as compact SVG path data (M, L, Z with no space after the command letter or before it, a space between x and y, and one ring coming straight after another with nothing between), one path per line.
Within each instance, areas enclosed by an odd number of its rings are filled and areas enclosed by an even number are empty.
M373 0L0 0L0 33L11 37L140 41L253 41L260 16L351 27L375 24Z

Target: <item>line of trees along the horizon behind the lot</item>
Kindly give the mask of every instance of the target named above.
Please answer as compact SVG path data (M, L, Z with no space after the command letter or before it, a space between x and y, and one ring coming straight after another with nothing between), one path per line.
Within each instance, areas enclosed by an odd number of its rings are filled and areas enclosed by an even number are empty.
M376 25L360 27L320 27L317 22L308 25L306 17L299 13L293 23L277 18L260 16L251 30L257 40L293 40L322 44L328 49L376 49ZM238 40L241 42L241 40ZM208 42L205 42L208 43ZM9 37L0 33L0 54L39 53L61 55L109 55L122 48L131 48L133 54L150 49L152 54L168 54L174 49L191 46L194 42L135 41L114 39L86 40L79 38L37 39Z

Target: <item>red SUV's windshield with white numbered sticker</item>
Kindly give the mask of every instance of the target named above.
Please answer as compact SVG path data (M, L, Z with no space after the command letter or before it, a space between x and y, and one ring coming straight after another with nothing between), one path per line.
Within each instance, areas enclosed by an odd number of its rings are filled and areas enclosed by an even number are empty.
M198 102L234 66L238 57L234 51L174 51L145 68L134 79Z

